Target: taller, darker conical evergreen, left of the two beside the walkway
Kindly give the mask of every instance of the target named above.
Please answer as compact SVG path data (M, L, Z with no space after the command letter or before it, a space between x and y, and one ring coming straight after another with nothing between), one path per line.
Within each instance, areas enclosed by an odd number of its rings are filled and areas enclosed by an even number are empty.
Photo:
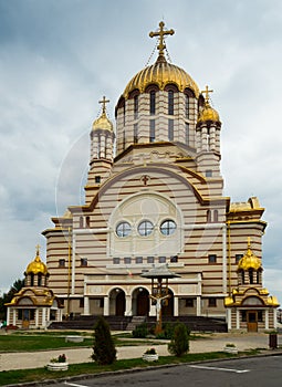
M116 348L111 335L109 326L104 317L98 317L94 330L92 359L100 365L113 364L116 359Z

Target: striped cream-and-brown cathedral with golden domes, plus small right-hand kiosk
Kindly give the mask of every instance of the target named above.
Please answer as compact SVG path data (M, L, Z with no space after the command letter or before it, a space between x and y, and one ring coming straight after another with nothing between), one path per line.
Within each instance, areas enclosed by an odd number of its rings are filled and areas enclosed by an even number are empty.
M208 86L170 63L164 22L154 64L137 72L90 133L85 203L52 218L49 287L67 317L156 316L150 280L175 273L161 313L227 318L229 330L276 324L262 285L264 209L257 197L231 202L220 171L221 121Z

